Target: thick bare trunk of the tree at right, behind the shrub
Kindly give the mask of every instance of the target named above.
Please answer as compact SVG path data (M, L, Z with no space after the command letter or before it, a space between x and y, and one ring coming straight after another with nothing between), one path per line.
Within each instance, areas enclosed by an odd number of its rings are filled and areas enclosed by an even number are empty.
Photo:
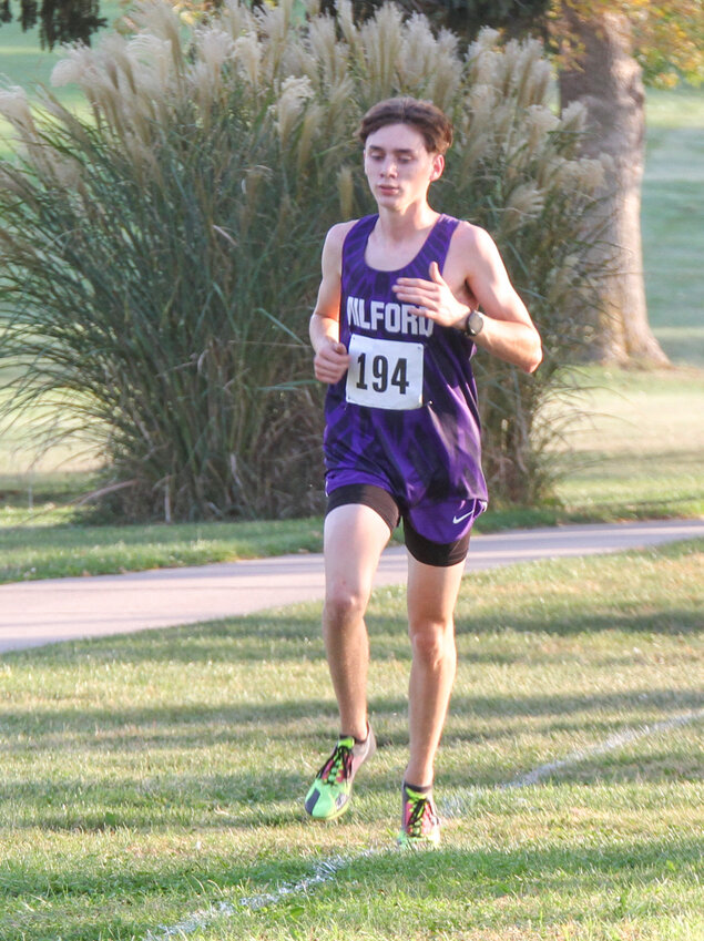
M605 153L604 239L610 265L604 277L599 356L606 361L666 365L667 357L647 323L641 245L641 184L645 136L645 93L632 54L628 19L608 12L589 21L565 12L580 43L574 68L560 73L562 106L586 108L586 156Z

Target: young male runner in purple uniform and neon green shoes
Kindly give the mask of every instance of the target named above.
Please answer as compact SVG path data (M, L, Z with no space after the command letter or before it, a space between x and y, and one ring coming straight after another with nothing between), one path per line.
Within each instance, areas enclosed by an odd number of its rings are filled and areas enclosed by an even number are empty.
M402 519L412 663L398 841L415 847L440 839L432 783L455 678L453 610L487 501L470 357L479 346L532 372L542 354L488 233L428 204L452 140L446 115L389 99L367 112L358 136L378 214L328 232L310 318L315 375L328 385L323 633L341 733L305 806L317 819L343 814L376 750L364 617Z

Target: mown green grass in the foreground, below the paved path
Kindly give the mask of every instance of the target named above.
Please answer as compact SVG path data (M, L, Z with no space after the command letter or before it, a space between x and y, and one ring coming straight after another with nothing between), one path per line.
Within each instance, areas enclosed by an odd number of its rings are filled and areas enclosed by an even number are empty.
M318 605L4 655L0 939L181 924L207 941L695 941L701 723L653 728L704 706L703 549L465 581L435 853L392 848L401 590L370 607L380 748L336 825L302 809L336 732ZM624 729L641 737L598 754ZM580 750L540 784L504 787ZM334 878L295 888L326 861ZM282 887L268 906L241 903Z

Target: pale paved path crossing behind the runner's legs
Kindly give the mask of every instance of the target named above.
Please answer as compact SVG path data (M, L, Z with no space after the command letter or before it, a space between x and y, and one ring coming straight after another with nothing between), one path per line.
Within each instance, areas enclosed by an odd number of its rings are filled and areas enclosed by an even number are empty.
M704 520L477 534L467 571L618 552L694 536L704 536ZM376 584L405 580L406 550L391 548L381 558ZM323 558L318 554L0 585L0 652L248 614L320 599L323 585Z

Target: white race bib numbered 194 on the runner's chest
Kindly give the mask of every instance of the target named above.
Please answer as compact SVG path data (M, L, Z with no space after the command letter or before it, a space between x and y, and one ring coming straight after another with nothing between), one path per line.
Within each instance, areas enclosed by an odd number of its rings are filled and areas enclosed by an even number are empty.
M397 411L422 405L422 344L353 334L347 401Z

